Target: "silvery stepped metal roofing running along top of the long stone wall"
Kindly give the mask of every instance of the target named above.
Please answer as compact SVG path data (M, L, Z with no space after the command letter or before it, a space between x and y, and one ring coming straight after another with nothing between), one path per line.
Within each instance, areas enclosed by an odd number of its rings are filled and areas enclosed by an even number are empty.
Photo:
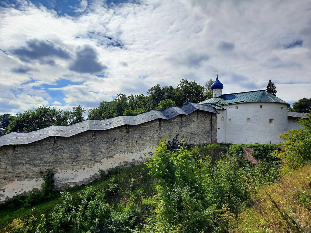
M87 130L108 130L122 125L139 125L156 119L171 119L177 115L188 115L196 110L218 113L215 108L197 103L186 103L181 107L168 107L160 111L151 110L136 116L120 116L104 120L85 120L69 126L49 126L31 132L12 132L0 136L3 145L29 144L49 136L70 137Z

